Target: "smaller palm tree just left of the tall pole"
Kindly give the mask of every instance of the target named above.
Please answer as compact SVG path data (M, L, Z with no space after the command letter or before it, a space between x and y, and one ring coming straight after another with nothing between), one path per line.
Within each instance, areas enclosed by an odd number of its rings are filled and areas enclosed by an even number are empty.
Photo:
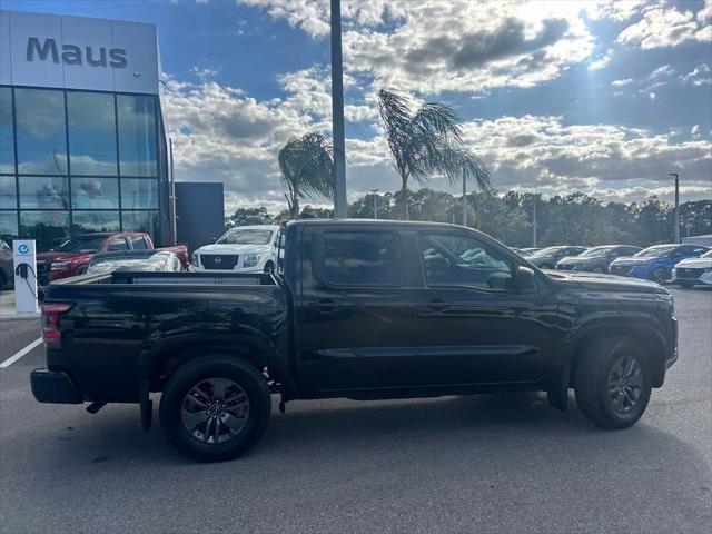
M299 218L300 198L334 198L333 148L323 134L289 139L279 150L279 170L290 218Z

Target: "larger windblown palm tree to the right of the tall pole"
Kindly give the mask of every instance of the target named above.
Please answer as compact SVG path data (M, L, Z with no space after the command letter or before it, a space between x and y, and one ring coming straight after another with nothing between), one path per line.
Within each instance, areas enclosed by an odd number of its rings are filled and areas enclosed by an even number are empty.
M477 156L463 148L462 119L453 108L428 102L412 111L407 97L380 89L378 111L400 176L404 219L408 218L411 178L425 185L432 175L441 174L451 182L463 180L463 190L467 182L490 190L490 171Z

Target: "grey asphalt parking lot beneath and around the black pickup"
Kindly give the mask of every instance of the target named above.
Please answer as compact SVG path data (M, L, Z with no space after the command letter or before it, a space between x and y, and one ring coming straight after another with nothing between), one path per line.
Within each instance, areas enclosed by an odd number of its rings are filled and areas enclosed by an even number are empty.
M144 433L136 406L36 403L38 346L0 369L0 530L708 532L712 290L672 291L680 359L622 432L540 395L294 402L285 415L275 397L246 456L195 464L158 425ZM0 362L38 329L0 322Z

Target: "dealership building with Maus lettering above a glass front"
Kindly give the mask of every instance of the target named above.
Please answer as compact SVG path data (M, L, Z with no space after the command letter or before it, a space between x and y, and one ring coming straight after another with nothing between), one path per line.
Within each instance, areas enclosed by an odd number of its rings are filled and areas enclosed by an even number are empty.
M0 11L0 237L174 240L156 27Z

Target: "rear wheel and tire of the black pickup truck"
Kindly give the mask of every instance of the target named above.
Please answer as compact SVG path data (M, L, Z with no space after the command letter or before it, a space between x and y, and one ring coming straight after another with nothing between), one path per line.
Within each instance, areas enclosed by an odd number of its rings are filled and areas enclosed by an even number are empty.
M190 360L174 373L164 388L159 417L180 453L198 462L221 462L257 443L270 411L261 373L240 358L215 355Z

